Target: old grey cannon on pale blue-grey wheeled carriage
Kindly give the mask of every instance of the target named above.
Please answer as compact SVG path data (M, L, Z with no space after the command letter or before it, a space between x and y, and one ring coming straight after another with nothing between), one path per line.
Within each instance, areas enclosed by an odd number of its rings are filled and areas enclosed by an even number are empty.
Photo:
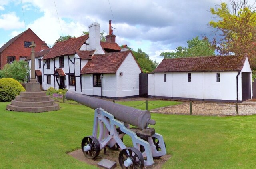
M143 168L144 165L150 166L154 163L153 157L159 158L166 154L162 135L149 127L156 124L156 121L151 119L149 111L74 91L67 91L66 99L95 109L92 135L84 137L81 143L82 152L87 158L94 159L102 149L110 147L121 149L118 161L122 168ZM126 147L123 143L125 134L131 137L133 147Z

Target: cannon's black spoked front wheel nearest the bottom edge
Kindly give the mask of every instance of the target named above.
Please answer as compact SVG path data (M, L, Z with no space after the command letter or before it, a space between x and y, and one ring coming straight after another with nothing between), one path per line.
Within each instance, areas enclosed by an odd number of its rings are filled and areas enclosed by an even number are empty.
M129 167L124 166L124 161L126 159L131 159L132 164ZM119 153L119 164L122 169L131 168L131 169L142 169L144 167L144 158L142 153L134 147L127 147L122 149Z

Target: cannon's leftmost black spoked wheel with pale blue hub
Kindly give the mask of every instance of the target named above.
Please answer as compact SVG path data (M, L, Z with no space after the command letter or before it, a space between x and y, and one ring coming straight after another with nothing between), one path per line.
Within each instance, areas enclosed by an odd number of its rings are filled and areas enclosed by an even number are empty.
M90 146L89 151L84 151L84 146L86 145ZM85 157L87 157L88 159L94 159L100 154L100 143L98 139L94 136L84 137L81 146Z

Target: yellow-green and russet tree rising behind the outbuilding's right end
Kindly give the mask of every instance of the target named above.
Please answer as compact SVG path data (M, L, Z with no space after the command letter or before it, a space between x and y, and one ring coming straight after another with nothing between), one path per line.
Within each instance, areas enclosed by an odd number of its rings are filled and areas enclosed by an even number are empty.
M256 67L256 12L247 0L230 0L232 12L226 3L211 8L216 16L209 24L220 36L212 42L221 55L247 53L252 66Z

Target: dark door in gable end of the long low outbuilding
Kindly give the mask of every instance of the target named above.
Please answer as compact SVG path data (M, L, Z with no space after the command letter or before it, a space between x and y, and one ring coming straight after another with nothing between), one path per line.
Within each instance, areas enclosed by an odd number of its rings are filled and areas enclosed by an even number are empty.
M242 72L242 101L251 98L250 73Z

